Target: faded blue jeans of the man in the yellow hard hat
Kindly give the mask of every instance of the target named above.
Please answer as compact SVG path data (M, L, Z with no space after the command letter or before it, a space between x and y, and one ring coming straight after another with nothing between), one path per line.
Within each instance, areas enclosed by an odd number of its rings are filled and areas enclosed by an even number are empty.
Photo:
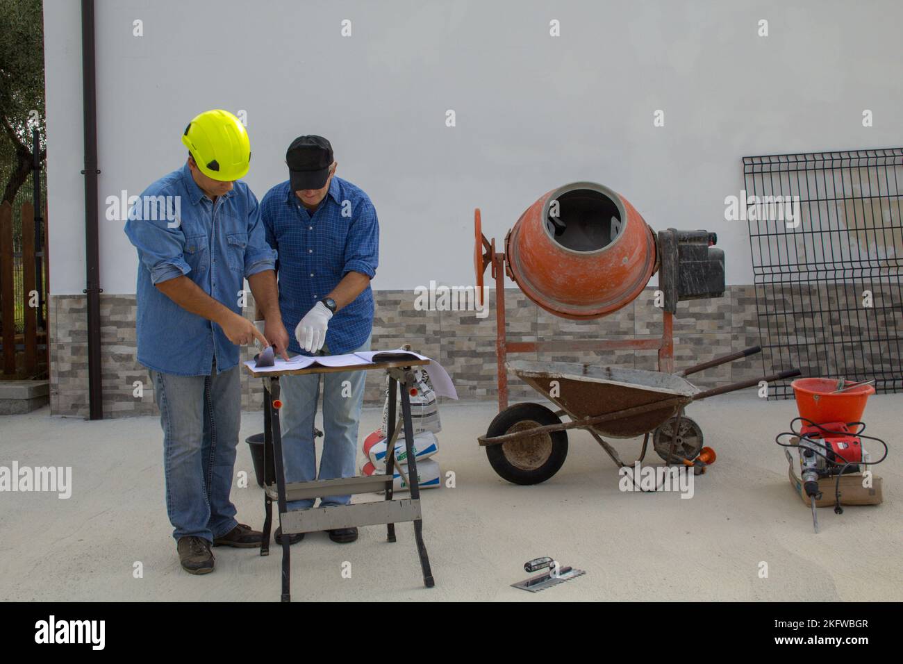
M163 426L172 537L219 538L238 525L229 500L241 424L238 367L209 376L151 372Z

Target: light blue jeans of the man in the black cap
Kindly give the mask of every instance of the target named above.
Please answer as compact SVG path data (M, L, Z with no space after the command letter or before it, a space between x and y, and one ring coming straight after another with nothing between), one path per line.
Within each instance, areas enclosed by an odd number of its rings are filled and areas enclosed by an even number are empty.
M370 337L356 351L369 351ZM329 354L323 347L321 355ZM313 443L313 418L317 414L320 377L323 378L323 453L320 474ZM354 477L358 454L358 423L364 402L366 371L283 376L279 379L283 407L279 411L282 426L285 482L312 482ZM345 382L348 381L347 388ZM350 496L324 496L320 507L348 505ZM289 510L309 510L313 499L292 500Z

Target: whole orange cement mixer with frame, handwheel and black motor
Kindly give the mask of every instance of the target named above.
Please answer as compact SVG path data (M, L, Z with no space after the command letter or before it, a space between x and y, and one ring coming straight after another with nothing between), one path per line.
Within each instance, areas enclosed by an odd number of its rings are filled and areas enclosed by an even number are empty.
M507 407L507 354L535 351L658 351L660 371L674 370L673 316L677 303L724 293L724 254L707 230L660 230L647 224L618 192L595 182L573 182L546 192L507 232L505 250L482 232L474 210L473 264L483 304L483 276L491 267L496 292L498 407ZM505 275L549 313L591 320L633 302L658 272L662 292L660 338L509 341Z

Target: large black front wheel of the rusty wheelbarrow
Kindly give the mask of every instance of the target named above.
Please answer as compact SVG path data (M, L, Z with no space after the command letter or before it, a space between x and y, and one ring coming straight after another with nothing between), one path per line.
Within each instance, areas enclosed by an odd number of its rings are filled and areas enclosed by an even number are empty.
M488 438L515 433L536 426L560 425L558 418L542 404L515 404L499 413L489 424ZM553 431L524 440L487 445L492 469L513 484L539 484L552 477L567 457L567 432Z

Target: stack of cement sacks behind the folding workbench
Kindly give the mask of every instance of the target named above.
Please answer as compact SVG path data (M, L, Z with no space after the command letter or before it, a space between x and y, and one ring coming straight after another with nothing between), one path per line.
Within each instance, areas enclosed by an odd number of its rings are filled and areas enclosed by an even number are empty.
M439 407L436 393L430 376L424 367L414 367L414 379L417 393L411 399L411 422L414 428L414 459L417 462L417 474L420 476L420 488L429 489L441 486L439 463L432 457L439 451L436 434L442 430L439 420ZM373 475L386 472L386 443L388 433L388 378L386 377L386 399L383 404L383 424L364 439L364 463L360 474ZM401 395L396 398L396 417L401 415ZM405 428L402 424L395 444L395 455L398 464L407 474L407 450L405 449ZM407 482L396 467L393 472L394 491L407 491Z

